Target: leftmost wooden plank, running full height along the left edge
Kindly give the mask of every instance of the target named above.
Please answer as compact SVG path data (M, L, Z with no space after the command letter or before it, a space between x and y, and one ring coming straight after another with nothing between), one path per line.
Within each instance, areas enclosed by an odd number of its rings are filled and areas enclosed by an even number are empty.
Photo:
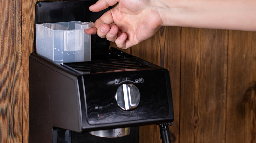
M0 0L0 142L22 142L21 1Z

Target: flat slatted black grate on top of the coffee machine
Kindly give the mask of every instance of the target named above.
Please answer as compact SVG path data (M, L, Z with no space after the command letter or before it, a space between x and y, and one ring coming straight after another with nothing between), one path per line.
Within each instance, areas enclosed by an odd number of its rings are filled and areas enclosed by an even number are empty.
M63 66L81 73L99 73L112 71L133 71L155 67L139 58L125 58L118 60L100 60L90 62L64 63Z

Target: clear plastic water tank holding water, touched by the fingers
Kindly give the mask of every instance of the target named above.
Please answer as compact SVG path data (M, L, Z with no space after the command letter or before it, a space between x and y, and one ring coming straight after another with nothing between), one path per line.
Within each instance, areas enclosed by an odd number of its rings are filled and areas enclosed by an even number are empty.
M93 22L36 24L36 53L54 62L91 61L91 35L84 29Z

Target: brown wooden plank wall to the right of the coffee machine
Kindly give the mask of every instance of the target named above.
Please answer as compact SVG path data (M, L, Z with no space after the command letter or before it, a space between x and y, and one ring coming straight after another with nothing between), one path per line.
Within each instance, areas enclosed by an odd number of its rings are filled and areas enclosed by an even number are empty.
M162 27L126 52L170 71L173 143L256 143L256 32ZM161 143L158 127L139 142Z

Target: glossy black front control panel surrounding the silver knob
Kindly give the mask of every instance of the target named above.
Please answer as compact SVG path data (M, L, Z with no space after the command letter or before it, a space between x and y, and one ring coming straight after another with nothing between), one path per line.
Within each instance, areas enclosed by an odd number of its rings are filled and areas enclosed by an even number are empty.
M164 118L169 114L164 70L83 75L91 125ZM100 80L96 80L100 78ZM100 81L100 82L99 82Z

